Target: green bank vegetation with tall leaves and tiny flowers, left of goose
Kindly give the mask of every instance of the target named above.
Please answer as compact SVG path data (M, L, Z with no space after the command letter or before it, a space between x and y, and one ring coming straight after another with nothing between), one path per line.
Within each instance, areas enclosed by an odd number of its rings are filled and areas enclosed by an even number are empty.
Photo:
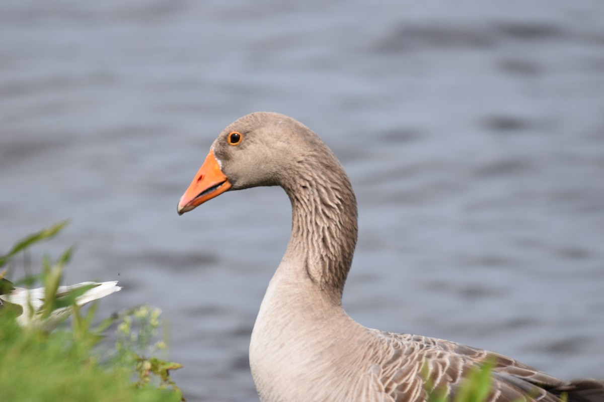
M14 257L26 253L43 240L56 236L66 222L34 233L17 242L4 256L14 270ZM71 306L72 326L53 332L43 325L21 327L19 306L4 303L0 308L0 389L2 400L19 401L181 401L182 392L170 378L170 370L181 365L153 356L165 342L153 344L160 326L158 309L143 306L98 321L95 306L86 314L74 300L82 290L56 297L63 268L71 257L68 249L53 261L45 256L38 275L25 275L15 285L31 287L37 282L46 290L44 304L33 322L45 322L56 309ZM27 258L25 258L27 261ZM25 267L27 268L27 267ZM0 280L4 273L0 274ZM5 283L5 281L3 282ZM104 332L117 324L113 347L100 344Z

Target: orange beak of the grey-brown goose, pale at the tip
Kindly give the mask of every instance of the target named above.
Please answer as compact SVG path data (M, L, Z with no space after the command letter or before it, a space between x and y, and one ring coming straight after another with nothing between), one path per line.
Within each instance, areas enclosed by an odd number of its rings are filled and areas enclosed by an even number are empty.
M231 183L220 169L214 151L210 151L205 158L204 165L199 168L191 185L178 202L178 215L189 212L230 188Z

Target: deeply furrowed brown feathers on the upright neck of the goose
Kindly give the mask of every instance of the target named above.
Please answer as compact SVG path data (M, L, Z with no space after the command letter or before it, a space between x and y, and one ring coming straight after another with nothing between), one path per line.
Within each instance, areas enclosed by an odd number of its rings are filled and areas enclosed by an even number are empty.
M297 260L297 269L304 269L313 284L339 304L357 236L350 181L342 169L335 169L298 175L294 185L284 188L292 203L292 235L284 260Z

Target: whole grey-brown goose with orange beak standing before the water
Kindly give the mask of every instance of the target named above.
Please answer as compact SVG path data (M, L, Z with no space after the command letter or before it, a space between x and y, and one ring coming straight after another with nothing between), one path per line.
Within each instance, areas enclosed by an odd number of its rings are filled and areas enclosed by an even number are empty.
M357 239L355 193L333 152L293 118L256 112L228 125L179 200L189 212L230 190L281 186L292 205L286 253L254 324L249 365L262 402L427 401L456 395L492 360L487 401L604 402L604 383L566 382L444 339L364 327L342 307Z

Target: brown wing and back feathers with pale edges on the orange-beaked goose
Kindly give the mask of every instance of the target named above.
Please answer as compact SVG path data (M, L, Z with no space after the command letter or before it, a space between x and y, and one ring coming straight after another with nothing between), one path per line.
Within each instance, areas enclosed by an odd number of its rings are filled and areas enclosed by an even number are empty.
M471 368L494 365L487 402L604 402L604 384L597 380L564 382L517 360L443 339L379 332L377 350L387 356L371 366L359 386L373 392L366 401L426 401L426 383L454 397Z

